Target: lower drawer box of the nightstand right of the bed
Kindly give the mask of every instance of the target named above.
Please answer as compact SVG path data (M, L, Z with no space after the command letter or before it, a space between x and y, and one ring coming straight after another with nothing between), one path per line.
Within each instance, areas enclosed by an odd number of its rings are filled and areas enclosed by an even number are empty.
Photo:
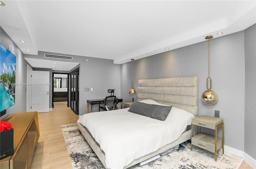
M200 133L191 138L191 144L206 149L211 152L215 152L215 136ZM222 139L217 138L217 149L222 147Z

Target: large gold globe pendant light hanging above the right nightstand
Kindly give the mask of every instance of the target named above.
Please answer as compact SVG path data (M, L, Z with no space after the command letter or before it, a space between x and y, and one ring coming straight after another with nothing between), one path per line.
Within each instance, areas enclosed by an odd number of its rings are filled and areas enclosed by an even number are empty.
M210 39L212 39L213 36L209 35L206 36L205 39L208 39L208 78L206 79L206 88L207 90L203 92L202 94L202 101L205 104L212 105L215 104L218 100L217 94L211 90L212 88L212 79L210 78ZM210 87L208 87L208 81L210 80Z

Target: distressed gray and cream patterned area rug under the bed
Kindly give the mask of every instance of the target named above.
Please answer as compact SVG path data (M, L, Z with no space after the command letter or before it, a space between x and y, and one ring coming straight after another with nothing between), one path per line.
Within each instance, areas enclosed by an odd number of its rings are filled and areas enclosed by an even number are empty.
M104 169L90 145L79 134L77 124L61 127L73 169ZM214 153L196 146L191 151L190 142L185 141L171 153L141 167L134 165L129 169L238 169L243 161L237 155L222 154L222 149L218 150L217 162L214 157Z

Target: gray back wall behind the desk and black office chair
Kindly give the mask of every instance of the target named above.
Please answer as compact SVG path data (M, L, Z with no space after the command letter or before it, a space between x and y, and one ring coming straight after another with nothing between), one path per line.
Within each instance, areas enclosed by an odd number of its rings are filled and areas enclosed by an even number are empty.
M45 59L44 51L39 51L38 55L24 55L24 57ZM51 53L48 54L64 55L62 53ZM100 59L84 56L72 55L73 60L69 62L80 63L74 69L79 67L80 75L80 95L79 95L79 114L83 115L87 113L87 100L105 98L110 95L108 89L116 89L115 95L120 98L120 65L114 64L113 60ZM88 61L86 61L88 59ZM56 60L57 59L50 59ZM59 60L58 60L59 61ZM72 69L72 70L74 70ZM71 71L72 71L71 70ZM70 71L70 72L71 72ZM56 71L54 71L56 72ZM58 71L60 73L61 71ZM93 88L93 91L85 92L84 88ZM51 105L51 104L50 104ZM98 111L98 106L93 107L93 111Z

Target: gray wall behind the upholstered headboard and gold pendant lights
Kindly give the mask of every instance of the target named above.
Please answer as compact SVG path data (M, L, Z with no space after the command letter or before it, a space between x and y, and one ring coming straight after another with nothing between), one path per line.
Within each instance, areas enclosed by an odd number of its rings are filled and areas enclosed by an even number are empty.
M214 110L220 110L220 118L224 119L224 144L244 151L244 31L218 38L213 36L214 39L210 40L210 77L212 90L218 95L216 104L209 106L201 101L208 77L207 40L135 60L134 88L137 88L139 79L197 76L198 115L214 116ZM121 66L121 96L124 101L132 101L128 94L131 69L131 63ZM137 100L137 95L134 98ZM218 136L221 137L221 128Z

